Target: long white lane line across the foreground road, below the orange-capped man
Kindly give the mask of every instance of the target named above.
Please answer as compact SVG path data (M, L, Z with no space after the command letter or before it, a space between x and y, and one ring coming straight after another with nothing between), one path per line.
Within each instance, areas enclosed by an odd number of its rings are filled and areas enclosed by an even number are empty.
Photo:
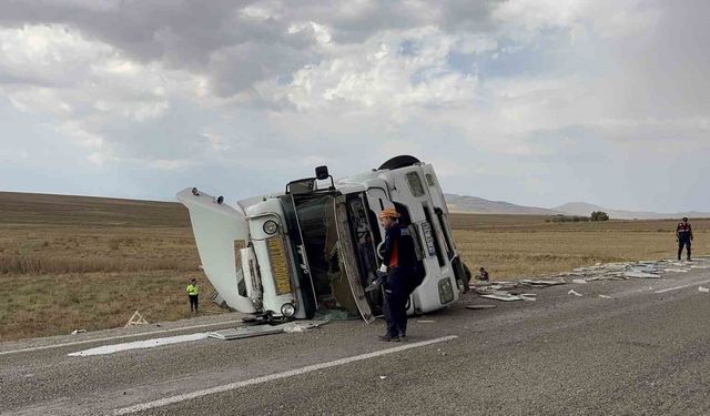
M376 351L374 353L367 353L367 354L356 355L356 356L353 356L353 357L335 359L335 361L327 362L327 363L314 364L314 365L310 365L310 366L302 367L302 368L290 369L287 372L283 372L283 373L270 374L267 376L251 378L251 379L247 379L247 381L244 381L244 382L230 383L230 384L225 384L225 385L222 385L222 386L207 388L207 389L204 389L204 390L197 390L197 392L181 394L181 395L178 395L178 396L161 398L159 400L142 403L142 404L130 406L130 407L123 407L123 408L114 410L113 414L116 415L116 416L120 416L120 415L128 415L128 414L136 413L136 412L149 410L149 409L152 409L152 408L168 406L168 405L171 405L171 404L174 404L174 403L191 400L191 399L195 399L195 398L207 396L207 395L215 394L215 393L223 393L223 392L234 390L234 389L246 387L246 386L253 386L255 384L262 384L262 383L273 382L273 381L276 381L276 379L293 377L293 376L297 376L297 375L302 375L302 374L306 374L306 373L311 373L311 372L316 372L318 369L336 367L336 366L339 366L339 365L355 363L355 362L359 362L359 361L367 359L367 358L379 357L379 356L383 356L383 355L398 353L398 352L406 351L406 349L412 349L412 348L423 347L423 346L427 346L427 345L432 345L432 344L443 343L445 341L450 341L450 339L455 339L455 338L458 338L458 336L456 336L456 335L443 336L440 338L435 338L435 339L429 339L429 341L422 341L422 342L412 343L412 344L405 344L405 345L400 345L400 346L397 346L397 347L394 347L394 348L381 349L381 351Z

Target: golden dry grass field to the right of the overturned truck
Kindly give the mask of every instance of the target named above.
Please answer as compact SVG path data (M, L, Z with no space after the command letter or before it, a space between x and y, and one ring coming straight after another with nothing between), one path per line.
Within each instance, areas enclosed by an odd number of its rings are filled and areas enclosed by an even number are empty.
M555 223L538 215L452 214L457 248L471 272L493 280L544 276L598 262L673 258L679 220ZM710 219L691 219L693 255L710 254ZM684 252L683 252L684 255Z

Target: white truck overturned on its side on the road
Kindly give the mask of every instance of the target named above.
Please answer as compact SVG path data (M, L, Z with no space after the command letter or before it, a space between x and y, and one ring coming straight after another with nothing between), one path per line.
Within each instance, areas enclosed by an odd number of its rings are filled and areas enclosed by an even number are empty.
M371 172L290 182L282 193L224 203L189 187L178 200L190 210L202 267L226 306L268 321L317 314L381 314L381 291L365 292L379 268L385 235L377 217L394 207L415 235L424 281L409 314L456 302L469 274L454 245L444 193L428 163L396 156ZM468 276L467 276L468 275Z

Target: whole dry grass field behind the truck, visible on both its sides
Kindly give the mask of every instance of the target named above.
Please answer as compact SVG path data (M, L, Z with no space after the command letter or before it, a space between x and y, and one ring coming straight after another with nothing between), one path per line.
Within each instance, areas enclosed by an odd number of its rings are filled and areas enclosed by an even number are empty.
M546 216L452 214L456 244L494 280L540 276L596 262L674 255L676 221L549 223ZM691 221L694 250L710 254L710 220ZM0 339L220 313L197 271L187 211L178 203L0 192Z

